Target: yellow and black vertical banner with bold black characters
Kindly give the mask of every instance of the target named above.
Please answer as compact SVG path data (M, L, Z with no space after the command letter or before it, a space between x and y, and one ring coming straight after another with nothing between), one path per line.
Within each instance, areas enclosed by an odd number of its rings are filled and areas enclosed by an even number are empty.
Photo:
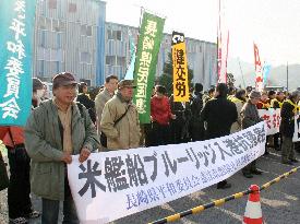
M184 34L172 32L173 102L189 102L189 71Z

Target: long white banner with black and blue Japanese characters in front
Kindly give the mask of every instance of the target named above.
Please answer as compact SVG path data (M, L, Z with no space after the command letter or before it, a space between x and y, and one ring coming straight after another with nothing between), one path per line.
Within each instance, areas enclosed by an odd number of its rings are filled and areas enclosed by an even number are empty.
M81 223L108 223L217 184L260 157L266 131L260 122L202 142L73 156L68 177Z

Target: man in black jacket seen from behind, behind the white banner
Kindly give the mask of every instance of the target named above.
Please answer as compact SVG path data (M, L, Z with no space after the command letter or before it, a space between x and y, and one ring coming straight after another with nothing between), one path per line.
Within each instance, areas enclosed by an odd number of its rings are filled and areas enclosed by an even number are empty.
M201 121L207 123L205 130L206 139L215 139L230 134L230 128L238 119L236 105L227 99L228 87L220 83L216 87L215 98L208 101L202 113ZM227 180L218 182L217 188L230 188Z

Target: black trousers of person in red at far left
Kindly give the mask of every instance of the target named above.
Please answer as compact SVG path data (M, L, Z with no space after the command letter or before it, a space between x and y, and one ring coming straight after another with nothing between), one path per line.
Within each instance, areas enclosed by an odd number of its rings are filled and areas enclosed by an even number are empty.
M10 185L8 189L9 217L24 217L32 212L31 201L31 158L24 145L8 150Z

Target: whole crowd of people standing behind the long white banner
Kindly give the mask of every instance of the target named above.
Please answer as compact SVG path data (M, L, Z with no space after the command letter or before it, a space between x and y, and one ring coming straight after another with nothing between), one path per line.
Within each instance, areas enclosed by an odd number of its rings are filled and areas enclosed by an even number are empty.
M266 146L281 150L284 164L298 162L292 134L300 108L299 91L257 92L219 83L203 92L203 85L195 83L190 102L181 103L173 102L165 86L155 85L151 122L142 125L132 103L136 87L132 80L107 76L94 101L87 84L77 83L71 73L59 73L52 82L53 97L46 99L45 86L33 79L33 110L25 128L0 127L0 139L9 151L9 217L14 224L40 215L33 210L31 192L41 198L43 224L58 223L60 201L63 223L79 223L67 173L72 155L79 154L83 163L93 152L219 138L261 122L257 109L281 109L280 132L268 137ZM252 178L262 170L254 161L242 174ZM218 189L229 187L227 180L217 184Z

